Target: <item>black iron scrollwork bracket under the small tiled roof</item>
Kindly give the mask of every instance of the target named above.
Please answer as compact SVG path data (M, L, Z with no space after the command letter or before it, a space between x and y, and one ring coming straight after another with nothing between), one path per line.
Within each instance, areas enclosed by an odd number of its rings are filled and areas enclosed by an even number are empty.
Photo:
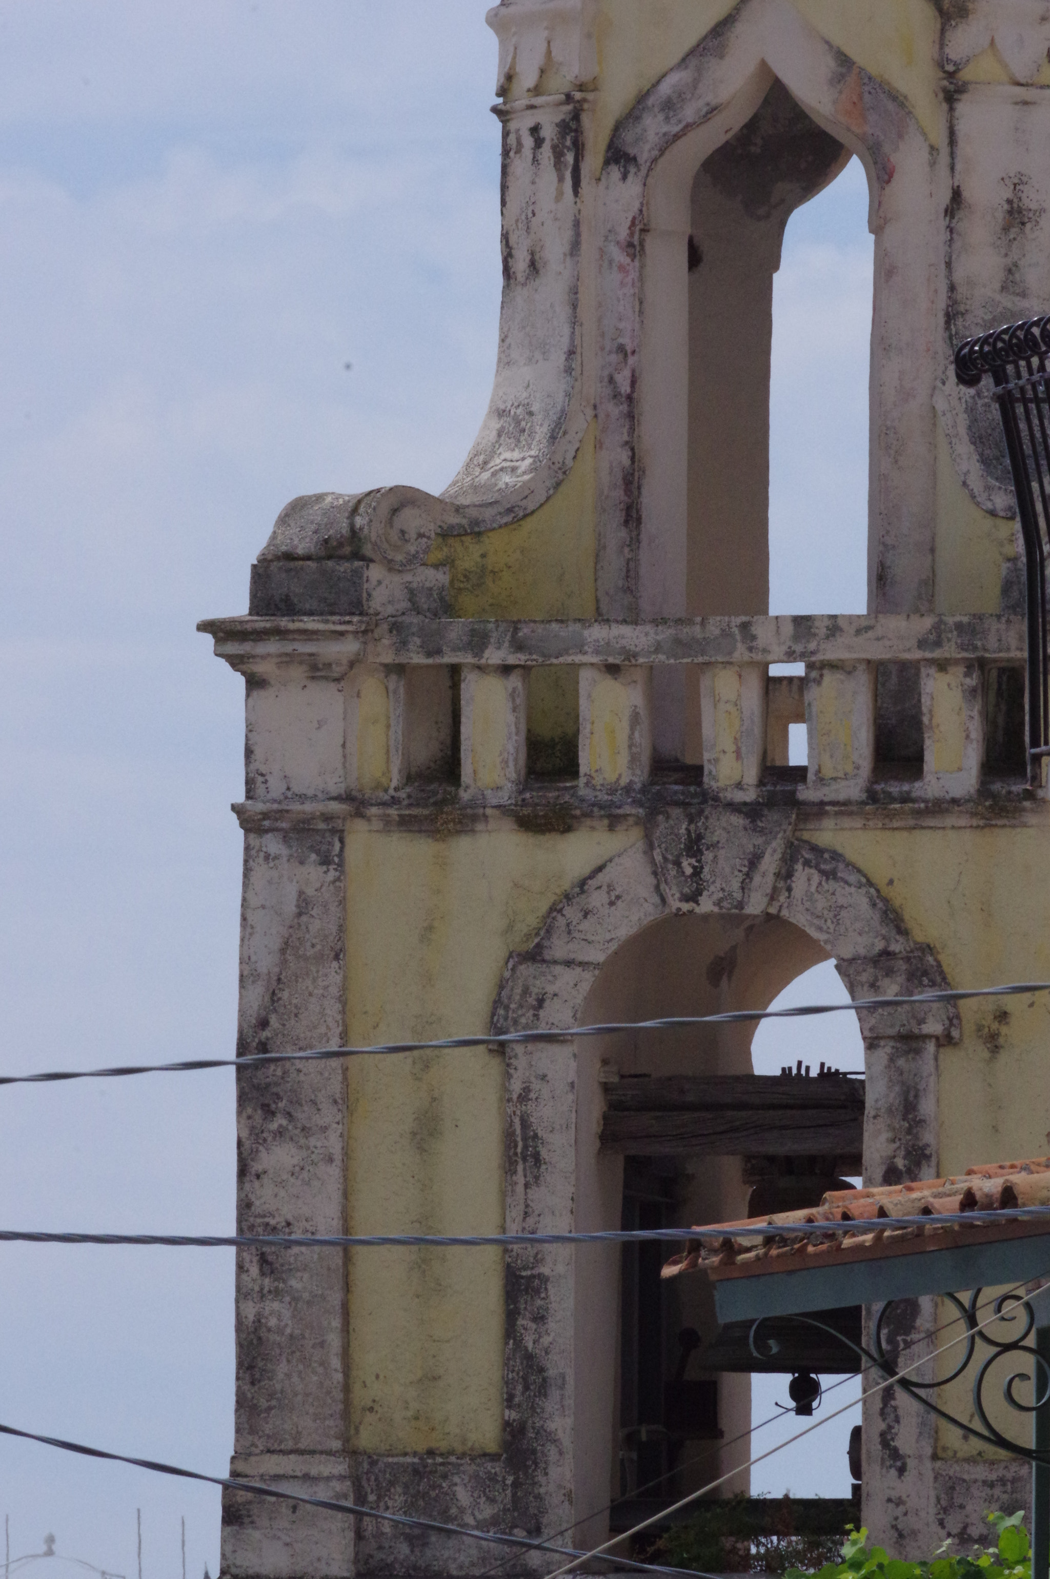
M819 1331L834 1337L838 1344L846 1344L859 1356L864 1366L872 1366L875 1371L889 1380L897 1382L902 1391L908 1393L916 1402L922 1404L924 1408L930 1408L941 1420L955 1426L958 1431L965 1432L968 1437L976 1437L979 1442L987 1442L990 1446L1003 1448L1015 1457L1028 1459L1031 1464L1047 1464L1050 1465L1050 1451L1037 1451L1031 1445L1031 1427L1028 1432L1028 1442L1015 1442L1012 1437L1004 1435L988 1415L985 1394L995 1377L1003 1374L1003 1367L1007 1367L1007 1374L1003 1378L1003 1397L1007 1405L1018 1415L1026 1416L1029 1421L1037 1413L1050 1404L1050 1361L1039 1353L1036 1345L1029 1342L1036 1330L1036 1312L1031 1307L1029 1300L1023 1293L1004 1293L992 1301L992 1314L998 1318L995 1326L984 1325L987 1315L979 1315L979 1311L987 1312L988 1301L982 1300L982 1288L974 1288L969 1300L963 1303L955 1293L946 1293L941 1298L947 1300L958 1314L958 1320L965 1325L965 1337L960 1341L962 1358L955 1363L954 1369L947 1375L936 1377L933 1382L919 1382L913 1375L902 1375L898 1364L908 1369L906 1348L898 1350L894 1358L889 1353L887 1344L887 1328L892 1325L892 1312L900 1307L902 1301L891 1300L887 1304L881 1306L875 1326L872 1330L872 1348L864 1344L854 1344L853 1339L846 1337L845 1333L835 1331L824 1322L816 1320L812 1315L794 1315L788 1320L805 1322L807 1326L816 1326ZM750 1331L750 1348L756 1360L771 1360L778 1350L780 1342L775 1337L766 1337L761 1333L764 1322L769 1317L759 1317ZM777 1317L777 1320L785 1320L785 1317ZM996 1336L999 1323L1011 1326L1018 1323L1017 1330L1007 1331L1004 1336ZM984 1348L990 1353L984 1355ZM960 1420L957 1415L949 1413L949 1410L941 1408L939 1404L933 1401L930 1394L936 1393L938 1388L949 1386L957 1382L966 1371L977 1361L977 1371L973 1380L973 1402L974 1413L981 1426L974 1421ZM1009 1369L1014 1363L1018 1363L1018 1369ZM1029 1369L1022 1369L1028 1366ZM861 1369L861 1366L857 1366ZM1023 1402L1017 1396L1017 1390L1022 1385L1028 1385L1031 1390L1031 1402Z

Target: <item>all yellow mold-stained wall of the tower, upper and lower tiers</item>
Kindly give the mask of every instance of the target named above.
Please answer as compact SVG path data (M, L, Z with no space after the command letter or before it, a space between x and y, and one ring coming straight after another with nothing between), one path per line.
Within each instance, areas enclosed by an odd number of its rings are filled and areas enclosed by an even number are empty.
M796 0L813 25L908 101L939 141L936 13L928 0ZM731 5L600 0L603 66L592 155L630 104ZM657 14L658 13L658 14ZM658 24L658 25L657 25ZM977 63L974 63L977 66ZM985 63L992 73L995 62ZM973 69L973 68L971 68ZM548 87L549 84L542 84ZM513 88L512 88L513 92ZM594 426L554 496L526 519L445 538L456 616L594 617ZM985 516L938 456L936 603L998 608L1012 526ZM531 733L575 744L575 674L534 682ZM477 832L347 827L347 1036L483 1033L508 954L575 881L636 840L600 820L531 831L494 813ZM933 946L960 985L1050 977L1045 832L1036 826L837 827L840 850ZM1045 1153L1050 1004L962 1006L963 1042L941 1052L941 1159L960 1168ZM504 1224L502 1061L488 1052L357 1061L349 1082L347 1230L499 1232ZM504 1282L499 1252L390 1252L349 1266L351 1443L371 1453L494 1453L502 1442Z

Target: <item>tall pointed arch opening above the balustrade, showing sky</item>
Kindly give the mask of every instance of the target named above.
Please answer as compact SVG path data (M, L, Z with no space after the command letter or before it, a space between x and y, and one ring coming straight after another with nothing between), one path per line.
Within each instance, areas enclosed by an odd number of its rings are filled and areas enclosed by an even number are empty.
M857 196L862 210L872 207L867 164L766 65L718 117L687 131L654 164L643 232L641 617L810 613L835 603L840 592L846 603L837 613L853 611L857 600L867 603L867 461L862 455L857 488L853 428L861 411L867 447L868 371L856 355L848 369L838 366L838 325L827 314L819 317L812 295L802 314L807 322L799 324L796 270L785 281L788 291L774 284L791 216L819 201L846 171L843 191L851 201L835 208L845 207L853 218ZM862 243L859 273L865 265L868 273L867 363L872 245ZM838 316L842 284L835 279L831 297ZM849 284L856 338L856 283ZM794 300L785 300L791 294ZM775 305L777 349L788 343L788 365L778 355L774 388ZM832 387L849 387L853 401L835 398ZM778 420L771 447L774 396ZM829 464L846 414L854 418L846 425L849 459L840 455L837 466ZM823 441L816 448L815 431ZM862 493L864 502L857 519L857 501L849 499L843 531L848 466L853 494ZM831 554L829 534L835 538ZM791 538L786 551L785 537ZM842 573L827 587L813 586L813 579L827 581L829 564ZM699 763L696 676L665 669L655 676L654 703L657 758Z

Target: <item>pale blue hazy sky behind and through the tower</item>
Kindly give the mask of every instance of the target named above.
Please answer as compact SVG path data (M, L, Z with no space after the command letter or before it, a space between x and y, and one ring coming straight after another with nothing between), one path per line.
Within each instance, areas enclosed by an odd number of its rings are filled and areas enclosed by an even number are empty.
M501 286L483 14L0 0L6 1071L232 1052L243 682L194 625L245 611L287 499L439 489L474 439ZM865 208L854 161L788 227L774 611L864 608ZM831 965L789 992L843 995ZM831 1023L848 1067L856 1018ZM815 1034L763 1033L756 1060ZM2 1091L0 1225L232 1232L232 1094L221 1072ZM0 1421L226 1472L229 1252L6 1246L0 1268ZM845 1437L827 1453L771 1461L767 1489L845 1491ZM216 1573L218 1492L0 1440L13 1558L54 1533L137 1579L139 1510L144 1579L180 1579L183 1517L189 1579Z

